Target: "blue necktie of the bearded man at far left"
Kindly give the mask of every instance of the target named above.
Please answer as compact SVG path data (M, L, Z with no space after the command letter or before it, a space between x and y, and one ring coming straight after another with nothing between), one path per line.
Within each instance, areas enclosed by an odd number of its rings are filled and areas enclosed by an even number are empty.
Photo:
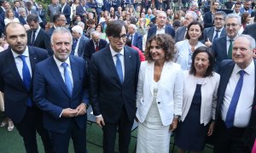
M30 71L26 65L26 56L24 55L19 55L18 56L21 60L22 60L22 63L23 63L23 67L22 67L22 77L23 77L23 82L25 84L25 87L27 90L29 90L30 88L30 82L31 82L31 76L30 76ZM28 99L27 102L26 102L26 105L28 106L32 106L32 101L31 99Z

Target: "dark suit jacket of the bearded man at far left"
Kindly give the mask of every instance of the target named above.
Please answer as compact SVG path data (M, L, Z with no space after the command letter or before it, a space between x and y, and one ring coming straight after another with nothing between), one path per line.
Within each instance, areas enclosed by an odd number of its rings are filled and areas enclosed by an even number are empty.
M35 65L47 59L48 54L41 48L28 47L28 51L33 74ZM29 91L26 89L10 48L0 54L0 90L4 93L6 116L19 123L25 115L27 100L32 99L32 86Z

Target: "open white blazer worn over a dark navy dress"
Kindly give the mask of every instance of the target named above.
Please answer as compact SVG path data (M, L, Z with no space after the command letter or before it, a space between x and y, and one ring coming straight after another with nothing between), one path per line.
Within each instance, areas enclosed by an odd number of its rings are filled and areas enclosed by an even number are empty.
M195 94L196 81L194 75L190 75L189 71L183 71L184 83L183 88L183 115L181 121L183 122L188 115L192 99ZM217 105L217 91L218 91L219 75L212 72L212 77L206 77L201 85L201 116L200 123L206 126L211 119L215 120L215 111Z

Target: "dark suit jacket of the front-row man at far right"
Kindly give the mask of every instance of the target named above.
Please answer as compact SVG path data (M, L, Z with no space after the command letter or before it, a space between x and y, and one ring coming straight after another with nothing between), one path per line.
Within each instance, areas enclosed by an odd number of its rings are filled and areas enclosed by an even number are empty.
M254 65L256 67L256 60L253 60ZM222 61L221 65L219 66L219 75L220 75L220 82L218 86L218 102L217 102L217 108L216 108L216 116L215 119L221 120L221 105L223 104L224 100L224 94L227 88L227 85L230 81L231 73L234 69L235 63L229 59ZM256 77L255 77L256 82ZM249 147L253 147L253 142L255 140L255 122L256 122L256 88L254 88L254 98L253 98L253 106L252 106L252 113L250 117L250 122L247 127L247 132L244 135L244 141ZM218 122L215 123L215 126L218 126ZM254 137L252 135L254 134Z

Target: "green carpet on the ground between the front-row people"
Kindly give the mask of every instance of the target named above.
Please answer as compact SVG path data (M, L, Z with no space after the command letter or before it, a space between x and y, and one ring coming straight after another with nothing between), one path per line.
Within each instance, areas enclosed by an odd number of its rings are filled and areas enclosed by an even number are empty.
M0 113L0 122L3 120L3 113ZM136 136L137 130L134 130L131 133L131 144L129 152L133 153L136 146ZM117 135L118 138L118 135ZM73 144L72 140L69 144L69 152L73 153ZM173 138L171 140L173 143ZM87 150L90 153L101 153L102 152L102 129L98 127L95 123L87 124ZM172 149L171 144L171 149ZM38 136L38 150L40 153L44 153L44 147L41 139ZM116 141L115 150L118 150L118 139ZM171 151L170 151L171 152ZM175 147L174 152L177 152ZM0 153L26 153L22 138L16 129L12 132L8 132L6 127L0 127ZM212 153L212 149L206 147L203 153Z

